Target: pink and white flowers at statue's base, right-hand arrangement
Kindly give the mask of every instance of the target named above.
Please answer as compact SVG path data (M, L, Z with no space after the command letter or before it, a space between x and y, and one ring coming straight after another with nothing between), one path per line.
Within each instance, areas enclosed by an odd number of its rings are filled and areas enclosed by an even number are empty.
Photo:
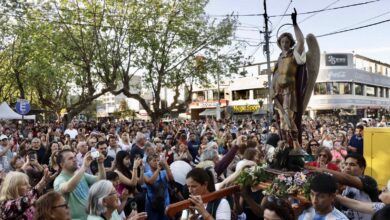
M303 195L306 199L310 199L311 179L312 175L303 172L296 172L294 175L279 174L263 193L279 197Z

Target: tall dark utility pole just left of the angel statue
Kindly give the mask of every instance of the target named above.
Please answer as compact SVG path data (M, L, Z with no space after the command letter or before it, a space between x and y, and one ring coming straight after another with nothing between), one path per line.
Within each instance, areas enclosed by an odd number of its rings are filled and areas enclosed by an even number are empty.
M268 74L268 126L271 125L272 122L272 115L273 115L273 106L272 106L272 97L271 97L271 91L272 91L272 82L271 82L271 58L270 58L270 51L269 51L269 32L268 32L268 14L267 14L267 0L264 0L264 23L265 23L265 32L264 32L264 38L265 38L265 45L263 50L265 51L267 55L267 74Z

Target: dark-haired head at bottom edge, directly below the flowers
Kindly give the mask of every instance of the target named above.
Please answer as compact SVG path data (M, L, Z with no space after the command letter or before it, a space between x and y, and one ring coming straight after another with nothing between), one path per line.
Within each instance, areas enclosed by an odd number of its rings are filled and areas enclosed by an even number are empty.
M264 220L294 220L294 210L290 203L276 196L264 197L262 202Z

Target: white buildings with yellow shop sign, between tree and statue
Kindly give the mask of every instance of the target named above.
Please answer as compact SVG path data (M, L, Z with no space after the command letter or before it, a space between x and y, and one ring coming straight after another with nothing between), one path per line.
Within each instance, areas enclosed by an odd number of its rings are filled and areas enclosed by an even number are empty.
M266 109L268 89L266 75L242 77L220 82L220 107L224 117L256 118L256 112ZM218 88L198 87L192 92L192 103L189 106L192 119L215 117L218 105ZM265 111L261 111L265 112Z

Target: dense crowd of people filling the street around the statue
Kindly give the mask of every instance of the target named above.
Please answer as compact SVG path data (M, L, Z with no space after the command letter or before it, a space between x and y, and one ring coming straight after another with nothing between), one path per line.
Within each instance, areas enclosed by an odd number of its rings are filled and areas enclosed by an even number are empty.
M383 121L378 124L387 124ZM382 123L383 122L383 123ZM372 123L372 122L370 122ZM366 126L304 117L311 206L241 188L207 203L243 169L271 163L278 126L264 120L0 123L0 219L390 219L388 186L365 175Z

